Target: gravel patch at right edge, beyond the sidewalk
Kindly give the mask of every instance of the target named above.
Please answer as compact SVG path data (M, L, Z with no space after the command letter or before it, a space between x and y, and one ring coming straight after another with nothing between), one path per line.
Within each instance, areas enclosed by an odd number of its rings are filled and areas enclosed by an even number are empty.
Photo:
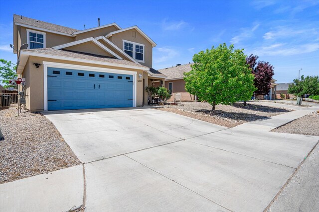
M319 115L316 112L296 119L282 127L272 130L277 133L319 136Z

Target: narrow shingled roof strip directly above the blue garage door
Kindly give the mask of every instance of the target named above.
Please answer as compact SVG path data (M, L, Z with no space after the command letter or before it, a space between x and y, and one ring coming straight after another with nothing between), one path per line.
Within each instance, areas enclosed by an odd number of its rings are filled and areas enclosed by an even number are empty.
M70 50L60 50L60 49L53 49L53 48L44 48L44 49L26 49L21 51L22 54L26 52L32 52L32 53L41 53L42 57L47 55L53 55L53 56L62 56L62 57L68 57L68 58L75 58L75 59L84 59L84 60L91 60L91 61L98 61L98 62L105 62L105 63L112 63L112 64L118 64L118 65L126 65L126 66L133 66L133 67L140 67L140 68L146 68L146 66L142 66L140 64L133 63L131 61L127 60L120 60L116 58L111 58L107 56L102 55L94 55L89 53L83 53L83 52L76 52L76 51L70 51ZM85 61L83 61L85 63Z

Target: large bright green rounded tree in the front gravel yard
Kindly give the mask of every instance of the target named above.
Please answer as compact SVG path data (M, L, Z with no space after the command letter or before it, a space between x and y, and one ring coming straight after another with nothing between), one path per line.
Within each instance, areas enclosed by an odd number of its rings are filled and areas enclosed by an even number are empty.
M207 101L215 110L217 104L251 99L254 75L246 64L243 50L220 44L193 56L192 70L184 73L187 92Z

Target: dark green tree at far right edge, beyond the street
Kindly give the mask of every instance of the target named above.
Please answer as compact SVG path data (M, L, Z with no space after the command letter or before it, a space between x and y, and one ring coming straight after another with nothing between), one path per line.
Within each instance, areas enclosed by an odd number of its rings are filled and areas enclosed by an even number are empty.
M289 85L288 92L295 96L302 97L305 94L319 95L319 76L302 75L299 79L294 79L294 83Z

